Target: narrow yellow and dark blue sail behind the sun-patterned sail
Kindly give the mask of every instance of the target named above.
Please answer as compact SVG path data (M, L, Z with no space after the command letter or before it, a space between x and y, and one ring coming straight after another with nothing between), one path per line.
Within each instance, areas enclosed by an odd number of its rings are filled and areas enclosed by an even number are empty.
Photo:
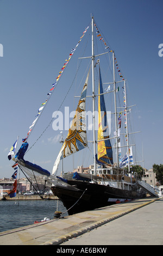
M103 164L113 164L112 148L109 139L109 127L106 117L106 108L103 95L102 78L99 69L99 89L98 89L98 162Z

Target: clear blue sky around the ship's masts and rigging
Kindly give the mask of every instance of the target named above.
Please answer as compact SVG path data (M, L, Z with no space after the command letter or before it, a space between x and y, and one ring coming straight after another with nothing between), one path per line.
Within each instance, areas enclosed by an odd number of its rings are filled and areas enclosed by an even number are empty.
M141 165L149 169L163 162L163 57L158 55L159 44L163 44L162 7L161 0L0 0L0 178L12 175L14 162L7 158L10 147L17 136L18 147L27 136L65 58L90 25L91 14L115 50L128 81L130 102L136 104L135 131L141 131L136 139L140 155L143 145L145 160ZM30 136L29 147L52 119L65 84L66 77L59 83L60 95L52 95L45 121L38 123ZM59 143L52 143L57 136L51 125L26 160L51 172L60 149Z

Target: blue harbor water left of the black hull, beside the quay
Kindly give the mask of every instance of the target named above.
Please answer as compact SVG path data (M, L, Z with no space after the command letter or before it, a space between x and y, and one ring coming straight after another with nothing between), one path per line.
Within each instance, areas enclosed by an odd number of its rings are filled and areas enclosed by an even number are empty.
M65 212L59 200L0 200L0 232L34 224L45 217L53 220L54 212ZM67 216L67 211L63 216Z

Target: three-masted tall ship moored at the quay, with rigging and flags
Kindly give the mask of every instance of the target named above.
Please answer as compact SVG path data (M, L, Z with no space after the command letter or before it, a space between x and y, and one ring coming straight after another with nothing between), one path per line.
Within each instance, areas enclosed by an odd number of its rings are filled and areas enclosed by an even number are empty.
M66 135L66 139L63 137L61 139L62 147L54 161L51 173L47 169L24 160L24 154L28 148L27 141L62 73L88 31L90 31L91 37L91 54L89 57L79 58L85 62L86 66L83 88L80 90L80 96L77 96L79 101L68 129L68 135ZM103 45L104 52L95 53L95 50L98 49L95 47L97 41ZM108 70L111 70L110 76L103 71L106 64L103 66L102 62L106 57L109 59L105 63L108 63ZM107 79L105 83L102 80L102 72ZM95 80L97 80L97 84ZM90 93L90 89L91 94L87 95L88 91ZM118 95L120 90L122 99ZM110 98L107 99L106 96ZM87 101L91 101L91 107L86 103ZM66 59L57 80L47 94L46 101L39 108L39 113L29 127L27 137L23 139L23 144L16 155L12 155L12 160L24 175L28 175L32 179L39 179L39 182L41 180L45 186L51 186L54 196L61 200L69 215L102 208L117 202L143 198L147 193L156 196L153 188L141 181L141 177L132 171L135 164L133 157L135 144L130 142L130 136L134 133L129 130L131 107L127 102L126 79L122 75L115 52L106 43L94 17L91 17L91 25L85 28L78 44ZM89 111L92 113L92 122L88 125L86 120ZM89 140L90 133L92 135ZM81 153L87 149L91 151L89 156L91 168L87 169L87 173L68 172L65 160L71 159L69 161L73 162L72 159L77 159L79 154L79 162L81 162ZM87 159L87 156L88 154L85 153L84 158Z

